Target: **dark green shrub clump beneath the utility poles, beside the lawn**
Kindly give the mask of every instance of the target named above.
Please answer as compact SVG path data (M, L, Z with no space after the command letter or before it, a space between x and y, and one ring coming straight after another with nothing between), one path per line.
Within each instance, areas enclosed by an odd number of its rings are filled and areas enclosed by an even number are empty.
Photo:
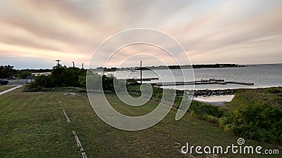
M86 73L87 70L82 70L77 67L66 67L62 65L56 65L51 70L49 76L37 76L35 81L32 81L25 91L53 91L60 87L80 87L86 89ZM89 74L89 78L92 84L90 89L99 90L100 79L102 79L102 85L104 91L114 92L114 81L116 84L121 83L117 80L113 74L102 76L93 73ZM128 80L130 84L137 84L137 81ZM85 90L86 91L86 90Z

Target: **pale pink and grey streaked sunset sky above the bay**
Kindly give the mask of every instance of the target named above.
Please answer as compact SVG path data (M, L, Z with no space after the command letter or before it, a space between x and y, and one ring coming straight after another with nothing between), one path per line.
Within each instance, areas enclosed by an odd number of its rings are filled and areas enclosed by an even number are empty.
M175 39L190 60L179 50L172 57L161 49L173 48L173 42L130 45L116 53L111 45L108 52L95 52L114 34L136 28ZM282 1L1 0L0 65L51 68L57 59L93 68L137 66L139 60L148 66L281 63Z

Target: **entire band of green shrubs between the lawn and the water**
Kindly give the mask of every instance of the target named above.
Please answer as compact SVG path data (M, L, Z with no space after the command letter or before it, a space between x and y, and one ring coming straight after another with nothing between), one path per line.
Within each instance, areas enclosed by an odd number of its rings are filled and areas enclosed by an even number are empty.
M101 78L104 91L117 91L117 89L114 89L114 82L118 85L121 81L117 80L112 74L100 76L93 73L89 78L92 79L90 88L99 90L99 79ZM137 81L128 79L127 85L130 94L133 96L141 95L140 84ZM32 88L32 91L50 91L48 88L65 86L85 87L85 71L58 65L51 70L49 77L37 77L29 87ZM154 87L151 99L160 102L161 98L164 98L165 101L175 98L173 107L178 108L183 91L176 91L176 96L173 96L173 91L171 90L170 93L170 90L166 90L166 93L164 93L162 88ZM83 92L83 90L80 90L80 92ZM188 112L197 119L214 124L220 123L221 128L231 131L237 136L263 142L282 143L282 130L279 129L279 126L282 125L282 112L281 109L278 109L282 103L282 88L245 89L238 90L237 93L236 98L239 99L236 100L235 98L233 102L229 103L231 110L222 110L222 108L214 105L193 101Z

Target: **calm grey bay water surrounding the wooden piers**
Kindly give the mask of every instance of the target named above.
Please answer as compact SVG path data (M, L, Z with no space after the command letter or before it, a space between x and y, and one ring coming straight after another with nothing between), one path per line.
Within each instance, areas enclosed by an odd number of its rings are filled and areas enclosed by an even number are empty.
M254 86L238 84L203 84L195 85L195 89L227 89L227 88L265 88L271 86L282 86L282 64L273 65L247 65L247 67L228 68L202 68L194 70L195 79L225 79L225 81L242 81L255 83ZM118 79L140 78L140 71L116 72ZM193 81L192 70L143 70L142 77L158 77L160 81ZM146 81L144 81L146 82ZM193 86L164 86L163 88L192 89Z

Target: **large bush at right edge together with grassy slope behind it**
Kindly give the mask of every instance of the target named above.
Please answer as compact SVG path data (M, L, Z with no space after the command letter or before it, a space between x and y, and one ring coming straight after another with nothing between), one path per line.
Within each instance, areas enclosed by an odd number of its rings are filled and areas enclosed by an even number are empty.
M281 144L281 92L281 87L237 90L221 127L244 138Z

